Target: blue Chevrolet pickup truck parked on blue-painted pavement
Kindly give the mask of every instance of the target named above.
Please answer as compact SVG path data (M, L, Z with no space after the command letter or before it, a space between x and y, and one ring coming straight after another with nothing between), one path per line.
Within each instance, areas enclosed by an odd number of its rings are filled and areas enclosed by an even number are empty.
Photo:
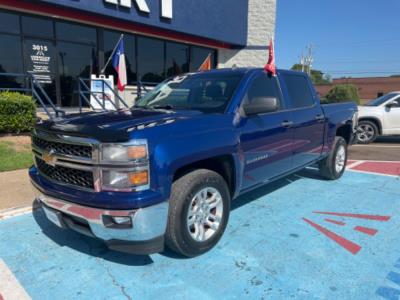
M29 174L57 226L193 257L217 244L239 195L310 165L341 177L356 120L352 102L321 105L304 73L190 73L129 110L38 123Z

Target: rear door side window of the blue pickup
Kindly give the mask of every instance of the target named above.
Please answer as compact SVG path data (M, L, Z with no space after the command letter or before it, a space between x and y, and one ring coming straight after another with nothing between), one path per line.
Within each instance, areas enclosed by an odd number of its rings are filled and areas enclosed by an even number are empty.
M304 76L285 74L283 75L283 78L292 100L293 108L309 107L314 105L313 94L308 85L308 81Z

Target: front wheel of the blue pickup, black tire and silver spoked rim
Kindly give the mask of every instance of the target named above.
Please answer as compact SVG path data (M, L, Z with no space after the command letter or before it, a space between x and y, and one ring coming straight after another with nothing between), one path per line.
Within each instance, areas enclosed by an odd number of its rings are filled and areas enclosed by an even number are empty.
M211 201L213 196L215 201ZM169 202L165 234L168 248L194 257L218 243L228 223L231 202L228 185L221 175L206 169L184 175L173 183ZM199 209L199 205L204 206Z

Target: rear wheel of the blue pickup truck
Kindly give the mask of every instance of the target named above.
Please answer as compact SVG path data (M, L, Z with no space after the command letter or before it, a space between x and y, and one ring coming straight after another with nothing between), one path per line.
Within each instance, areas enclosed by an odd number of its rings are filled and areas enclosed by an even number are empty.
M319 171L322 177L328 180L336 180L342 177L347 163L347 143L344 138L335 138L332 151L320 161Z

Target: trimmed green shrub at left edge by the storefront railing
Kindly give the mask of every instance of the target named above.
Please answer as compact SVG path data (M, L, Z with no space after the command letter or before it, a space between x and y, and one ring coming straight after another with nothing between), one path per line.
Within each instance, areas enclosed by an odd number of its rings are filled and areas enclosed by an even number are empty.
M36 105L31 96L0 92L0 133L31 131L36 122Z

